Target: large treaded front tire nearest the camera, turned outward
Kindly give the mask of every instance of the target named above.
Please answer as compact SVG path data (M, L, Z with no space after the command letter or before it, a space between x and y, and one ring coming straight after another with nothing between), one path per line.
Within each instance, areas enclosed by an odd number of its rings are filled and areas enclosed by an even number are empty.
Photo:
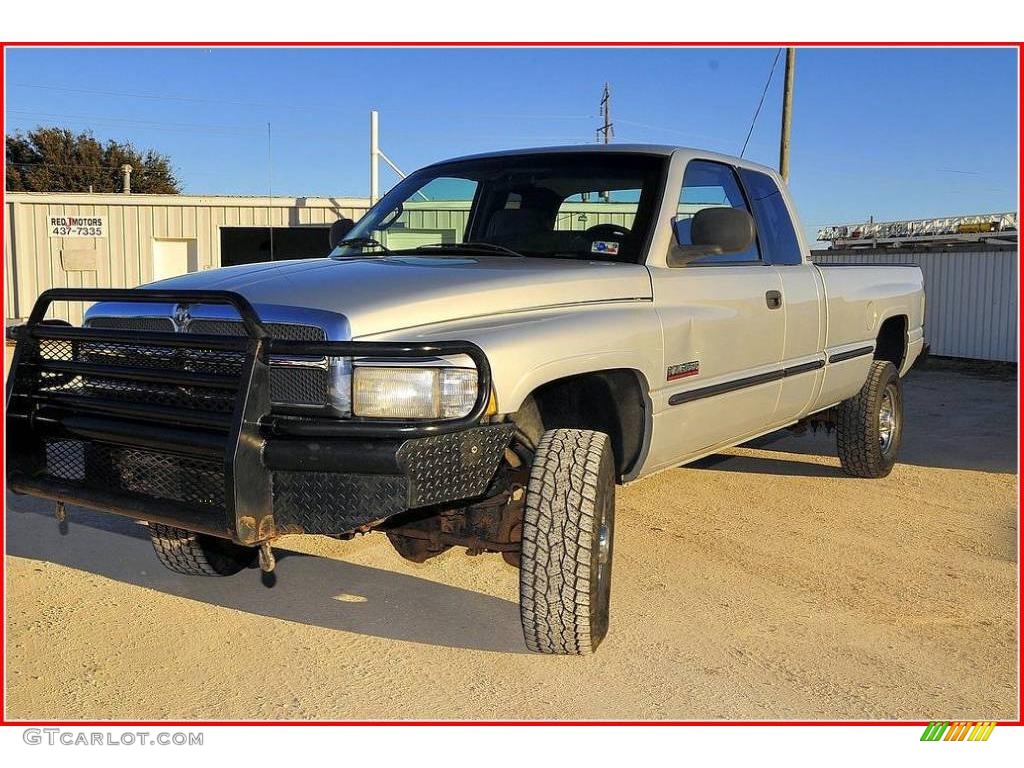
M603 432L552 429L526 488L519 614L538 653L592 653L608 631L615 475Z

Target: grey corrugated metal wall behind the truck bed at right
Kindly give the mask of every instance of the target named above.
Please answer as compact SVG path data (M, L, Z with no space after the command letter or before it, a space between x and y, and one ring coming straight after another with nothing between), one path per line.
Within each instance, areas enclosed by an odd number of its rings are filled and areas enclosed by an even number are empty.
M1017 361L1017 268L1010 249L815 251L818 263L918 264L925 275L925 340L932 354Z

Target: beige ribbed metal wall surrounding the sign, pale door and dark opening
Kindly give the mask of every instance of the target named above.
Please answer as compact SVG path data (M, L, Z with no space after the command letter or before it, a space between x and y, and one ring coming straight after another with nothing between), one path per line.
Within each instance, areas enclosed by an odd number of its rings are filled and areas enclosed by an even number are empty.
M329 225L357 219L358 198L230 198L183 195L7 193L4 315L25 317L47 288L134 288L153 280L154 243L190 241L197 267L220 266L223 226ZM103 238L50 237L49 216L104 216ZM94 266L81 269L81 266ZM81 305L59 302L52 316L81 321Z

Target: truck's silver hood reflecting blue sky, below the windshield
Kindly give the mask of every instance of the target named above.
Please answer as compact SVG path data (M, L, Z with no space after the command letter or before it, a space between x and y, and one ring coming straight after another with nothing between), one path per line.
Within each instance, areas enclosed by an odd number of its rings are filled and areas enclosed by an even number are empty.
M191 272L144 288L236 291L256 305L337 312L352 338L486 314L652 297L647 269L510 256L302 259Z

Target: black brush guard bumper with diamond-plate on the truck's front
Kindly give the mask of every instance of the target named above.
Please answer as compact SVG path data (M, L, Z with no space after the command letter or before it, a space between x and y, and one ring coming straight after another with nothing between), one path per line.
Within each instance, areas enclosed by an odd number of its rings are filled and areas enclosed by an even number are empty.
M246 335L55 325L44 321L54 301L228 305ZM476 399L466 416L443 421L278 415L271 354L465 354L476 366ZM486 356L466 341L281 341L229 291L54 289L20 329L8 376L7 482L247 545L341 535L483 494L512 434L508 424L480 424L489 394Z

